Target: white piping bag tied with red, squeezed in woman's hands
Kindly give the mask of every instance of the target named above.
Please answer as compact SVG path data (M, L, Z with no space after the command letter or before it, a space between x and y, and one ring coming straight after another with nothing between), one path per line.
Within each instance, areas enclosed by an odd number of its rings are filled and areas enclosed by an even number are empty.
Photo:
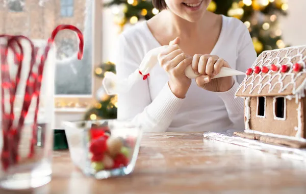
M118 93L125 93L129 91L133 85L140 80L145 80L149 76L150 70L158 63L158 55L163 50L165 50L168 45L160 46L150 50L143 58L139 68L135 70L128 78L122 79L117 77L113 72L107 72L103 80L103 86L108 95L115 95ZM245 75L245 72L238 71L236 69L231 69L228 67L221 67L219 74L212 77L211 79L228 77L228 76L238 76ZM192 66L189 65L185 69L185 76L189 79L194 79L199 75L195 74Z

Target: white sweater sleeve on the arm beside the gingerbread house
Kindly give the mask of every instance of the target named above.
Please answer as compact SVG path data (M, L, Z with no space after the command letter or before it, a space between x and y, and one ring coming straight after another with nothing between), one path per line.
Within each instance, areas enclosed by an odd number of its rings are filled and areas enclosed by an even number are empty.
M241 23L240 28L242 33L239 37L239 42L237 44L237 59L236 59L236 69L245 72L247 68L251 65L257 58L256 51L252 43L252 39L249 31L243 23ZM226 110L228 112L228 117L233 123L233 128L238 130L244 129L244 111L243 111L243 99L235 98L235 93L243 81L244 76L237 76L237 81L235 81L233 87L226 92L217 92L220 98L223 100Z

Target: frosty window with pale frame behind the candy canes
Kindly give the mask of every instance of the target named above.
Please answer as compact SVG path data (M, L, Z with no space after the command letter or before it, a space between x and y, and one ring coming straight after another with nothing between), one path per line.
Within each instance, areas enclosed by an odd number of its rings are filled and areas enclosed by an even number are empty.
M1 0L0 0L1 2ZM8 2L8 1L7 1ZM25 2L25 1L24 1ZM29 2L29 1L26 1ZM36 1L38 5L39 1ZM54 7L53 1L45 1L42 6L29 4L25 6L22 17L16 18L6 8L0 6L4 17L1 18L0 34L24 35L33 41L46 42L52 31L62 24L78 27L84 35L84 55L77 59L78 38L74 32L61 31L55 40L57 50L55 73L55 106L56 112L85 112L86 106L95 102L96 91L101 87L101 80L94 76L94 65L101 59L101 7L98 0L84 0L74 4L72 0L55 1L58 5L74 6L75 13L67 20L62 18L60 6ZM97 5L97 6L95 6ZM64 6L64 7L65 7ZM42 17L33 17L35 11ZM93 41L94 40L94 41Z

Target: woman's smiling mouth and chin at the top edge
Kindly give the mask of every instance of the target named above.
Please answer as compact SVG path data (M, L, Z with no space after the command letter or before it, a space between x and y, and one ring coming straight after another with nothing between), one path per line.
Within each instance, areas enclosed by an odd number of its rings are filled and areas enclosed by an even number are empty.
M168 0L168 9L190 22L196 22L207 12L211 0Z

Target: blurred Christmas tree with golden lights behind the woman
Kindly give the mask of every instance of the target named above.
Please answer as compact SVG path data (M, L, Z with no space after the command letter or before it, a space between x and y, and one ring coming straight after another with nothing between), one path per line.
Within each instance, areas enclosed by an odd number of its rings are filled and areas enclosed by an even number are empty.
M147 20L159 13L148 0L113 0L106 7L111 8L115 15L115 22L121 27L130 23L134 25L139 20ZM208 10L216 14L236 17L244 22L253 40L257 54L288 45L282 40L282 30L279 29L277 18L287 15L286 0L212 0ZM111 66L110 66L111 65ZM115 64L102 64L95 71L103 79L107 71L115 71ZM101 92L103 89L101 88ZM102 96L102 97L101 97ZM86 113L86 119L115 118L116 96L100 95L99 103ZM112 108L111 108L112 107Z

